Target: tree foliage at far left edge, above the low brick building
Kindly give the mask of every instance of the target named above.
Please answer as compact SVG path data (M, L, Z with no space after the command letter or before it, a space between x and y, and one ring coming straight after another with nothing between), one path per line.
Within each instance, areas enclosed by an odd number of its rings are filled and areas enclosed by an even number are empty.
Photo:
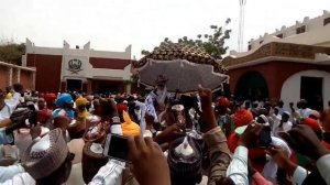
M21 65L22 64L22 55L25 54L25 44L18 44L13 41L6 42L0 41L0 61Z

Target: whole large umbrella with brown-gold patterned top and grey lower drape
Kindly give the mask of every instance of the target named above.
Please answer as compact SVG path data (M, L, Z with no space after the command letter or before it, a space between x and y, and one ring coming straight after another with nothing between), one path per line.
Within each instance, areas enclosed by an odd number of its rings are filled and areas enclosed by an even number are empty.
M217 90L229 79L228 70L217 59L200 47L183 43L162 44L133 67L147 87L155 86L158 75L167 77L168 91L193 92L198 84Z

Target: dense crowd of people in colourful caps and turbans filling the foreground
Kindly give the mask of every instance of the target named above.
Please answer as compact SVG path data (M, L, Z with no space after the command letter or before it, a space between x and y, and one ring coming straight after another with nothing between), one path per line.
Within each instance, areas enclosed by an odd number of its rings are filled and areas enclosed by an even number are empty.
M0 184L330 184L330 109L166 81L145 97L0 89ZM129 160L103 154L111 134L128 139Z

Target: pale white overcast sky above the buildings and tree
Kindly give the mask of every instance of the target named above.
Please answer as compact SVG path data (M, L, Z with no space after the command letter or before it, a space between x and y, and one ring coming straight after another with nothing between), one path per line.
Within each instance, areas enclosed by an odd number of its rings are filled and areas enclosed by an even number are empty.
M246 0L244 50L248 41L293 25L305 17L330 11L330 0ZM196 37L210 33L210 25L232 30L226 42L238 47L239 0L0 0L0 40L36 46L82 46L124 51L132 45L132 57L152 51L164 37Z

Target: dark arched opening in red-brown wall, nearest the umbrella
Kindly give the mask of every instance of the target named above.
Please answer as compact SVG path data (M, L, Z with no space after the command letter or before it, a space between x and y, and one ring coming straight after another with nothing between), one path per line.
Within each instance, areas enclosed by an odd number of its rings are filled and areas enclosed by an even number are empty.
M268 86L258 72L246 72L238 80L234 95L240 100L258 100L268 98Z

